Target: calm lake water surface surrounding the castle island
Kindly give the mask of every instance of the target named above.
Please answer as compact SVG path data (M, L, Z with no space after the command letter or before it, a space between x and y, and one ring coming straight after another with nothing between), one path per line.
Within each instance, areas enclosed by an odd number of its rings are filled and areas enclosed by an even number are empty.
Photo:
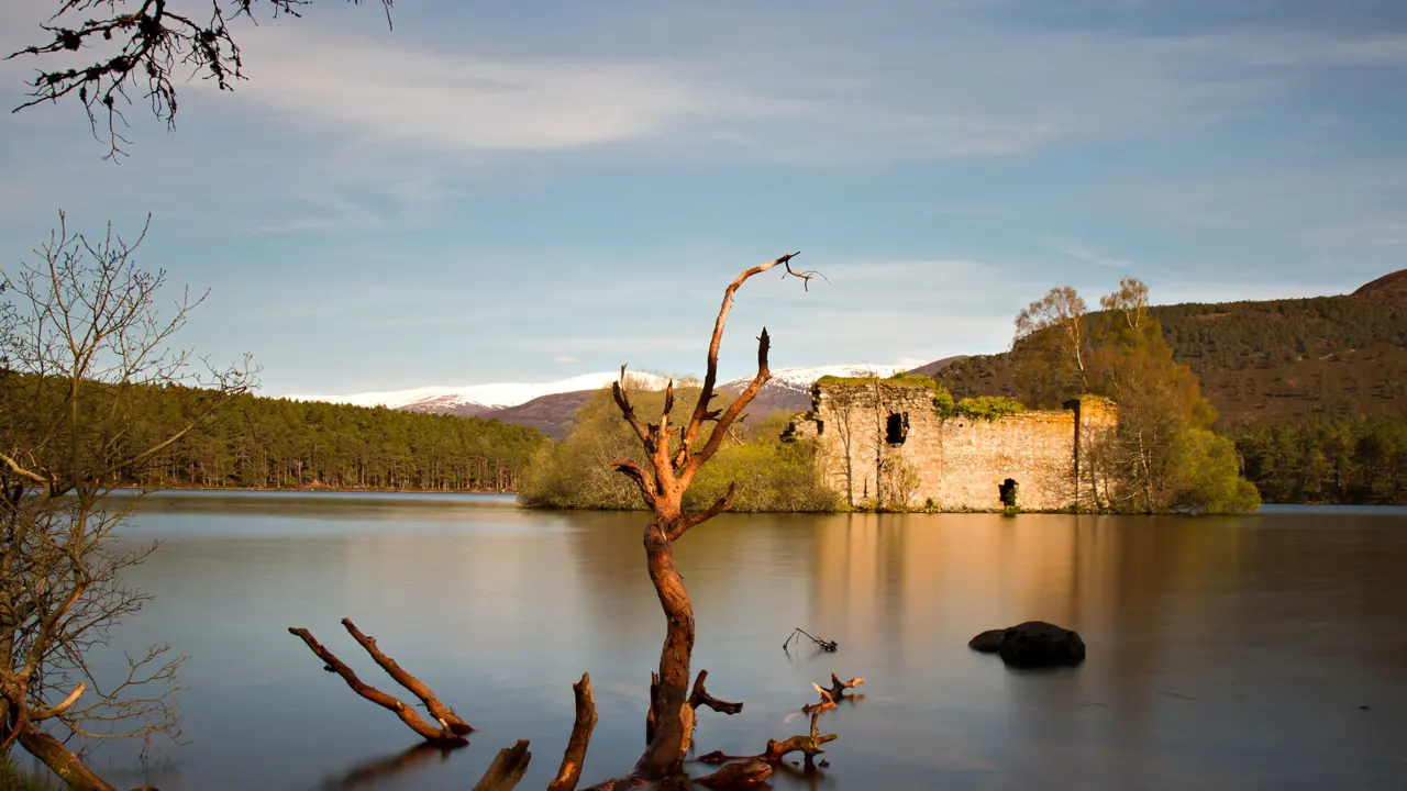
M584 783L643 746L664 622L639 514L549 514L508 498L151 495L125 540L163 539L132 574L156 600L117 633L189 653L189 745L127 788L456 790L532 740L543 788L591 673L599 725ZM777 788L1403 788L1407 511L1247 518L729 515L677 548L698 618L695 669L740 715L701 712L696 745L761 750L805 730L810 681L862 676L829 712L823 777ZM402 694L350 616L478 730L407 753L395 716L288 635L307 626ZM1088 662L1016 673L968 650L1026 619L1078 629ZM833 639L817 654L794 626Z

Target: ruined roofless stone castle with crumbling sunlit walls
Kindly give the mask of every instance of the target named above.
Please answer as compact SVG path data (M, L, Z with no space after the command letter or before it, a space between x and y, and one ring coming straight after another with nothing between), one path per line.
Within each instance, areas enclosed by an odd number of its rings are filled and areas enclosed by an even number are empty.
M1089 484L1078 486L1089 477L1082 457L1088 466L1090 450L1116 428L1112 401L1083 397L1064 410L983 419L941 417L933 397L923 380L822 380L812 410L796 415L789 432L816 441L822 476L841 497L848 460L855 504L882 494L888 508L931 500L941 511L1000 511L1014 484L1024 511L1088 505L1081 491Z

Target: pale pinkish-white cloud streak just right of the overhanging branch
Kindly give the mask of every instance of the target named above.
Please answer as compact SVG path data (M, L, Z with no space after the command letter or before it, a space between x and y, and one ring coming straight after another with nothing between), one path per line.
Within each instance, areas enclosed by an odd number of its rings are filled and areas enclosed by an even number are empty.
M294 31L249 35L238 93L378 145L553 151L640 138L696 108L663 65L438 53Z

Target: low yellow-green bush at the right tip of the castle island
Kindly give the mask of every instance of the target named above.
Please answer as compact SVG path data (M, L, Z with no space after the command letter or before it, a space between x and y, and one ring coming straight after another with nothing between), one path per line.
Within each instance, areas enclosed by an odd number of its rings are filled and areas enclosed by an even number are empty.
M1173 450L1178 472L1172 510L1242 514L1261 507L1261 494L1241 477L1235 443L1206 429L1183 431Z

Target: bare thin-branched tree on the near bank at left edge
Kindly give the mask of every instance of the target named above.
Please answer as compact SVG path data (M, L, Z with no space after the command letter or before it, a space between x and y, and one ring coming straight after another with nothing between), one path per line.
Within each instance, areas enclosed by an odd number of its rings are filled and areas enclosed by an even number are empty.
M186 291L160 315L165 272L134 258L145 234L89 239L61 214L38 262L0 280L0 746L18 742L80 791L111 787L70 736L179 735L183 657L169 646L131 657L120 678L90 667L90 649L148 601L122 571L155 549L114 543L131 500L107 495L252 384L248 357L194 373L191 353L170 349L203 297ZM180 393L174 426L139 417L153 388Z

